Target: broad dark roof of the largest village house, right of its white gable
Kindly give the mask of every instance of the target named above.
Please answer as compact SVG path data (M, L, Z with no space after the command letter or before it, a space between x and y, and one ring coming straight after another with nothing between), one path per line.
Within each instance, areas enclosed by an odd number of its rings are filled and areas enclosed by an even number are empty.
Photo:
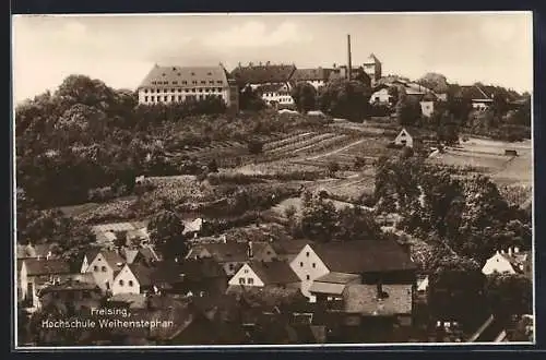
M329 242L312 249L331 272L361 274L416 267L410 254L391 240Z

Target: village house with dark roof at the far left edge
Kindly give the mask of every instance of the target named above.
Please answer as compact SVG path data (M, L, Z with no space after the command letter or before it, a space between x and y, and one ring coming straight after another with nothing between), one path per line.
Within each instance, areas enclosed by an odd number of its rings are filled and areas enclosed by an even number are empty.
M41 288L58 284L71 275L70 264L61 259L25 259L21 261L21 299L27 308L37 308Z

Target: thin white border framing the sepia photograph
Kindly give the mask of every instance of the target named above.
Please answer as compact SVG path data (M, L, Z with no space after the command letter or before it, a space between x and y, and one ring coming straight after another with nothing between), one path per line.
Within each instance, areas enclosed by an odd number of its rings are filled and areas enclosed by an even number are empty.
M531 91L531 145L532 145L532 151L531 151L531 175L532 175L532 188L533 188L533 194L532 194L532 227L533 227L533 236L532 236L532 253L533 253L533 341L512 341L512 343L372 343L372 344L367 344L367 343L357 343L357 344L301 344L301 345L191 345L191 346L60 346L60 347L41 347L41 346L17 346L17 290L16 290L16 284L17 284L17 260L16 260L16 161L15 161L15 156L13 156L13 164L12 164L12 170L13 170L13 180L12 180L12 185L13 185L13 213L12 213L12 219L13 219L13 256L14 256L14 267L12 267L13 271L13 285L12 286L12 292L13 292L13 300L14 300L14 313L13 313L13 340L14 344L12 343L13 350L15 352L37 352L37 351L57 351L57 350L133 350L133 351L139 351L139 350L158 350L158 349L179 349L179 350L188 350L188 349L195 349L195 350L222 350L222 349L239 349L239 350L245 350L245 349L274 349L274 348L281 348L281 349L316 349L316 348L351 348L352 350L357 348L360 350L366 350L366 348L388 348L388 347L401 347L402 349L404 348L417 348L417 347L476 347L476 346L487 346L487 347L514 347L514 346L536 346L536 260L535 260L535 135L534 135L534 13L533 11L529 10L521 10L521 11L437 11L437 12L426 12L426 11L416 11L416 12L321 12L321 13L312 13L312 12L275 12L275 13L260 13L260 12L249 12L249 13L241 13L241 12L219 12L219 13L120 13L120 14L13 14L10 17L10 24L11 24L11 29L12 29L12 37L11 37L11 47L10 47L10 63L13 69L13 45L14 45L14 32L13 32L13 17L105 17L105 16L313 16L313 15L389 15L389 14L405 14L405 15L443 15L443 14L475 14L475 15L480 15L480 14L531 14L531 38L532 38L532 44L533 48L531 49L532 55L533 55L533 89ZM13 88L14 88L14 83L13 83L13 70L10 74L10 77L12 80L12 88L11 88L11 106L12 106L12 151L13 155L15 155L15 108L14 108L14 99L13 99ZM499 349L499 350L505 350L505 351L523 351L522 349ZM388 350L389 351L389 350ZM392 351L392 350L391 350Z

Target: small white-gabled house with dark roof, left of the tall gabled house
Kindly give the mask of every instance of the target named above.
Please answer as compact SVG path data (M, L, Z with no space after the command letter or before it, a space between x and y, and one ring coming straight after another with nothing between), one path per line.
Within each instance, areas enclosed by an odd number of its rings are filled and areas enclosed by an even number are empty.
M299 288L300 281L290 266L282 261L257 262L245 265L229 279L229 287L292 287Z

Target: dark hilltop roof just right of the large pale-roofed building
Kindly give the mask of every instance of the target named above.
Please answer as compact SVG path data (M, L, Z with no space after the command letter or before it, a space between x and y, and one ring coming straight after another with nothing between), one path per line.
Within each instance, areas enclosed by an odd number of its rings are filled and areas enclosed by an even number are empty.
M295 65L284 64L238 67L232 71L232 76L239 84L285 83L295 70Z

